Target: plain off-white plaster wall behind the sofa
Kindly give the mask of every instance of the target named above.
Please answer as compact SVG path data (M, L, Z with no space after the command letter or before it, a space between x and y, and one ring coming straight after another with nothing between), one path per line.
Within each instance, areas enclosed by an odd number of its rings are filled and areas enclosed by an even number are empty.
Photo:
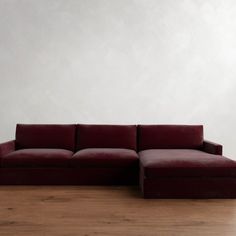
M16 123L204 124L236 159L235 0L0 0L0 141Z

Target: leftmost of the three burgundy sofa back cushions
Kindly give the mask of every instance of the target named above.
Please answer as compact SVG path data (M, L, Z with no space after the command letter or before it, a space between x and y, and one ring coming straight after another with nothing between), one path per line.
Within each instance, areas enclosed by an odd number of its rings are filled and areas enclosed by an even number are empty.
M76 125L17 124L16 148L60 148L75 150Z

